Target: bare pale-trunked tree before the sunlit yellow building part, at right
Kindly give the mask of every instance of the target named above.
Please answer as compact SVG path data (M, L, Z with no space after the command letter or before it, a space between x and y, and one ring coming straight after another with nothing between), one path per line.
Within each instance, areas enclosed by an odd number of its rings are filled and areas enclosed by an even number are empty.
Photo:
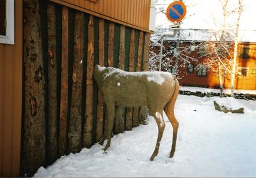
M231 96L234 96L234 81L237 71L238 33L241 15L243 13L243 0L237 0L236 6L231 6L230 0L219 0L221 3L221 22L214 19L216 30L211 31L214 41L202 43L200 52L207 56L204 64L209 70L218 75L223 96L223 76L230 79ZM234 1L232 1L233 3ZM235 19L231 22L230 19ZM220 26L220 29L217 27Z

